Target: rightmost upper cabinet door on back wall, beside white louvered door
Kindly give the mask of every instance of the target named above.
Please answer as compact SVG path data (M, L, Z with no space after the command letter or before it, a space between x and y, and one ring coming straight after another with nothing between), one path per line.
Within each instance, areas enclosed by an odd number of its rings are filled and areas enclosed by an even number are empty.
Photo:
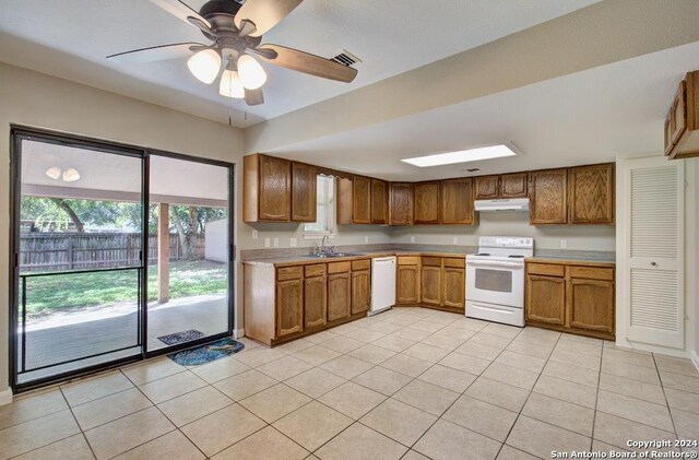
M614 165L568 169L568 222L614 224Z

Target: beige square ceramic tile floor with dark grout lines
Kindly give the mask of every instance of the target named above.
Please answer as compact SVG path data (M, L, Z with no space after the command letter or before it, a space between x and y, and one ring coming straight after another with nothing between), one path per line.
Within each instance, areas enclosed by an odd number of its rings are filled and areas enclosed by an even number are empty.
M420 308L242 341L20 396L0 459L533 459L699 438L691 362L612 342Z

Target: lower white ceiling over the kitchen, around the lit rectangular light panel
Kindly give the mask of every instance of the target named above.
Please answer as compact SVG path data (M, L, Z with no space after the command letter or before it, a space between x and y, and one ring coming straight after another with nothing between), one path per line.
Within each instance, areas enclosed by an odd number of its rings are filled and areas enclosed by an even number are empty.
M699 42L461 104L313 139L273 154L391 180L428 180L660 153ZM418 168L401 158L512 142L523 155ZM481 168L467 173L471 167Z

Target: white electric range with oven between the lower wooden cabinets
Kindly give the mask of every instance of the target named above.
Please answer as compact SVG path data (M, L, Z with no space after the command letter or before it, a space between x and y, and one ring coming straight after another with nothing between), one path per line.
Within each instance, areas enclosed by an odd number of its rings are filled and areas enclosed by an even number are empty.
M524 327L524 258L534 239L482 236L466 256L466 316Z

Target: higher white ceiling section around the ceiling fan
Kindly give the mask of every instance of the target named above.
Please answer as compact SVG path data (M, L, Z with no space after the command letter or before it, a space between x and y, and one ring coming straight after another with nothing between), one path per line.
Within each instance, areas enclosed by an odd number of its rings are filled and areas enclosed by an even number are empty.
M105 57L134 48L203 39L201 33L146 0L2 0L0 60L247 127L584 8L599 0L306 0L264 36L332 57L358 56L351 84L271 64L266 103L226 99L187 70L183 60L117 64ZM190 0L199 9L204 0ZM247 110L247 115L245 111Z

